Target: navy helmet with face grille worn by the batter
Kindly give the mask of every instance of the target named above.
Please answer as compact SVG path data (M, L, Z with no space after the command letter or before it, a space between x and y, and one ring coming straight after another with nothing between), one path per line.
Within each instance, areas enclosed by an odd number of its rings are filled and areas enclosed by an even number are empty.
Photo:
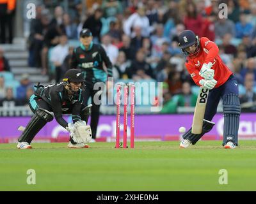
M196 44L196 50L193 54L189 54L185 48L191 47ZM200 51L200 42L198 36L191 30L182 31L179 35L179 47L185 56L195 57Z

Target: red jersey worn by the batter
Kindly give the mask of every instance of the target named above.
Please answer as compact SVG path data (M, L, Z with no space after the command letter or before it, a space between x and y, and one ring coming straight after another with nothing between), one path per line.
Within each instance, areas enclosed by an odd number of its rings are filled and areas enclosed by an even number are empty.
M214 79L217 81L215 87L220 87L223 85L232 71L230 71L227 66L223 63L219 55L219 48L216 43L212 42L208 38L200 38L200 52L196 57L187 57L185 66L188 69L189 74L193 78L196 85L199 85L199 81L203 79L199 75L199 71L204 63L212 62L214 69Z

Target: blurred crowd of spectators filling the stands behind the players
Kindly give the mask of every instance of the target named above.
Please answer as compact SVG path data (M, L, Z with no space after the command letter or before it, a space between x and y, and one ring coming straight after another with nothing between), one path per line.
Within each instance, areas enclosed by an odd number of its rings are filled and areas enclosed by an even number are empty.
M28 64L42 69L51 80L60 82L72 50L79 45L79 32L88 28L93 42L106 49L115 80L164 82L162 113L175 113L177 106L195 106L195 84L184 68L177 40L181 31L191 29L199 37L217 43L221 59L237 78L241 103L256 100L255 1L86 1L85 12L81 11L81 1L72 3L72 12L61 6L56 6L54 12L44 4L36 6L28 38ZM220 18L220 3L227 4L227 18ZM0 71L10 71L1 49ZM0 78L0 99L12 100L13 93L4 87L3 80ZM22 99L30 92L28 84L24 91L25 84L20 88ZM255 112L256 106L246 111Z

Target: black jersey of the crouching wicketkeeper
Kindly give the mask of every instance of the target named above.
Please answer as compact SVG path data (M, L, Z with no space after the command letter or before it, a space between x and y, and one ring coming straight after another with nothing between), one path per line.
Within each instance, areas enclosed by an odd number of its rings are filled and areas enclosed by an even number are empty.
M68 96L64 83L50 84L44 87L42 99L49 104L57 122L67 127L67 122L63 119L63 113L72 113L73 122L81 120L81 108L84 99L84 91L81 89L76 95Z

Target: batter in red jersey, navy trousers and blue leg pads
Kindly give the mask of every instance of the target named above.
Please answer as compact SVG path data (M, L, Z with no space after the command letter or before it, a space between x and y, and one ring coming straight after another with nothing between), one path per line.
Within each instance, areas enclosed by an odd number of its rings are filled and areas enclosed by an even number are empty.
M232 71L221 61L216 43L185 30L179 35L179 46L186 55L185 66L198 86L210 89L205 108L201 134L192 134L189 129L180 142L180 147L195 145L202 136L211 131L218 103L223 99L224 133L222 145L225 149L234 149L238 145L238 128L241 107L238 98L238 84Z

